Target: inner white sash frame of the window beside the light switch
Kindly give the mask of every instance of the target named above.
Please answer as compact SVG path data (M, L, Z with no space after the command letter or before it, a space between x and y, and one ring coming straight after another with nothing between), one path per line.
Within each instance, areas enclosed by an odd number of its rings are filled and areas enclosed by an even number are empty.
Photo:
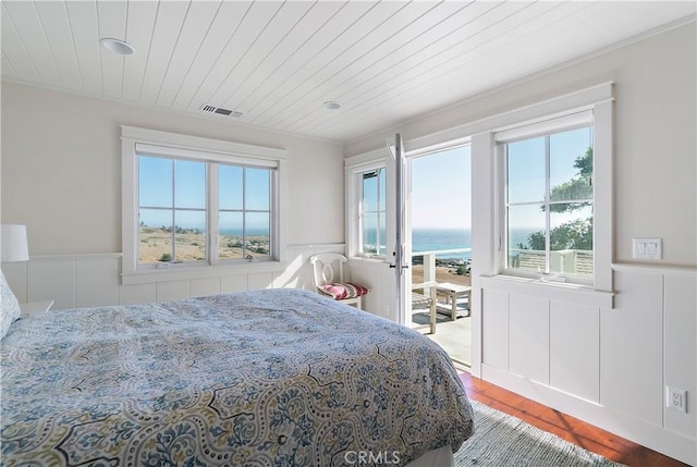
M506 151L505 151L506 145L511 143L519 142L519 140L536 138L536 137L549 137L550 135L553 135L557 133L567 132L567 131L588 127L588 126L590 126L591 128L595 127L594 114L591 110L584 110L584 111L571 113L568 115L552 118L552 119L533 123L529 125L512 128L509 131L498 132L493 135L493 139L497 144L496 162L494 162L496 172L497 172L497 199L500 200L499 201L500 205L498 206L499 219L497 220L498 221L497 224L500 225L500 229L498 232L498 235L499 235L498 243L499 245L501 245L499 248L500 256L498 257L499 259L498 269L500 273L506 274L506 275L535 278L535 279L551 276L552 281L563 281L563 282L577 283L577 284L584 284L584 285L592 285L592 278L570 275L570 274L563 274L563 273L555 273L555 272L547 273L547 271L540 274L539 272L536 273L527 270L511 269L511 268L508 268L508 265L506 265L508 245L510 243L506 238L509 225L508 225L508 220L505 216L506 205L508 205L506 193L505 193L508 187L506 185L508 163L506 163ZM594 131L594 134L595 134L595 131ZM548 164L548 171L546 173L546 191L549 194L551 189L551 187L549 186L549 183L550 183L549 147L547 148L546 158L547 158L546 163ZM596 157L594 152L594 168L595 168L595 159ZM595 174L595 169L594 169L594 174ZM550 202L549 199L545 199L542 201L542 204L546 204L548 208L549 208L549 202ZM595 202L596 202L596 198L594 195L594 198L592 198L594 207L595 207ZM549 209L546 210L546 216L548 218L547 225L549 226L549 216L550 216ZM594 213L594 218L595 218L595 213ZM545 262L547 266L549 266L550 253L551 253L549 250L550 230L546 229L545 234L546 234L547 246L548 246L548 249L546 250L546 255L545 255ZM595 250L595 244L594 244L594 250Z

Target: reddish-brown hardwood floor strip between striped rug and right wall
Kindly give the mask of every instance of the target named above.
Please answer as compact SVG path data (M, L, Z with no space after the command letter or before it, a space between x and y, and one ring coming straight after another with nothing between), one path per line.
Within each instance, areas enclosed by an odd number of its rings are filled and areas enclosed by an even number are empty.
M460 379L469 398L525 420L611 460L631 467L687 466L577 418L474 378L467 372L461 371Z

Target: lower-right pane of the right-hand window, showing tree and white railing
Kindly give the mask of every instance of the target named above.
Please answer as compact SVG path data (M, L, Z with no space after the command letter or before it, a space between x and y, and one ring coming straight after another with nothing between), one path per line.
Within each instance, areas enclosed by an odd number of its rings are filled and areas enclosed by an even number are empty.
M591 276L592 208L557 206L559 211L550 214L550 272Z

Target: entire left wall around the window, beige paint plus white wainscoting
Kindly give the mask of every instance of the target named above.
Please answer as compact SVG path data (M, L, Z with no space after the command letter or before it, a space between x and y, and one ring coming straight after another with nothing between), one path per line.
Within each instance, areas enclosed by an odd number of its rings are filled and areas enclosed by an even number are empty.
M27 225L32 258L2 265L20 302L73 308L302 287L309 255L343 251L340 145L4 82L1 122L1 220ZM285 265L121 285L122 124L285 149Z

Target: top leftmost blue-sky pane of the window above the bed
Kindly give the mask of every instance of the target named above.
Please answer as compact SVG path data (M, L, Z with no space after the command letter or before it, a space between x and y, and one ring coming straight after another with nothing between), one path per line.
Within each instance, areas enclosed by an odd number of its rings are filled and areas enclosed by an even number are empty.
M155 157L138 157L139 206L149 208L171 208L172 160Z

